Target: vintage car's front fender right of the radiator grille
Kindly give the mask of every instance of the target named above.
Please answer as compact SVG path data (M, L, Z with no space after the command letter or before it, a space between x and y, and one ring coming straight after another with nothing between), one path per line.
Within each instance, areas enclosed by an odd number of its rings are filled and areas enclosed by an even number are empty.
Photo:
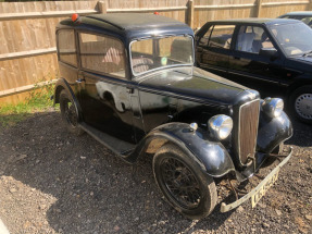
M278 118L267 118L261 111L257 139L257 151L270 153L280 143L292 136L292 124L283 111Z

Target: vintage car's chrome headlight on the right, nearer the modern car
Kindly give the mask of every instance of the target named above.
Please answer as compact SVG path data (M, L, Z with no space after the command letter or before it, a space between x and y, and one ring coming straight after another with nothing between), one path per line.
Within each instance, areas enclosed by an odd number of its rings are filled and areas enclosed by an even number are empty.
M270 118L277 118L284 109L284 101L280 98L265 98L261 104L262 111Z

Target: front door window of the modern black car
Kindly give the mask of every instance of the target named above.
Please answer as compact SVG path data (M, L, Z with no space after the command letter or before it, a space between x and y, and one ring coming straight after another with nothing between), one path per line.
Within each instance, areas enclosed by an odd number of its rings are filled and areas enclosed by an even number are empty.
M241 26L237 35L235 49L259 53L261 48L274 48L264 29L258 26Z

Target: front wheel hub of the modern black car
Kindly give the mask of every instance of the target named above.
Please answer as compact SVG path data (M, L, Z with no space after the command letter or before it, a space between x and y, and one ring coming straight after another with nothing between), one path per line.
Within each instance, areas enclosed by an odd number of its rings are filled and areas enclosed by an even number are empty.
M312 120L312 94L300 95L295 102L297 113L307 120Z

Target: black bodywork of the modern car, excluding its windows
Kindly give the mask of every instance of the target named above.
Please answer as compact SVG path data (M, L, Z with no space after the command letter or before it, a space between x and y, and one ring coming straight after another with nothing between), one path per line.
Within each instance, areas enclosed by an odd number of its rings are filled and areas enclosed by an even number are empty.
M267 28L271 25L302 24L288 19L244 19L212 21L196 34L196 59L201 69L222 75L230 81L257 89L262 97L282 97L289 101L291 93L298 87L312 84L312 60L302 54L287 57L276 38ZM199 40L214 25L235 25L229 49L214 49L200 46ZM277 49L276 57L267 57L235 50L238 30L241 26L259 26L264 29ZM307 27L307 29L309 29ZM208 63L204 58L209 57Z

